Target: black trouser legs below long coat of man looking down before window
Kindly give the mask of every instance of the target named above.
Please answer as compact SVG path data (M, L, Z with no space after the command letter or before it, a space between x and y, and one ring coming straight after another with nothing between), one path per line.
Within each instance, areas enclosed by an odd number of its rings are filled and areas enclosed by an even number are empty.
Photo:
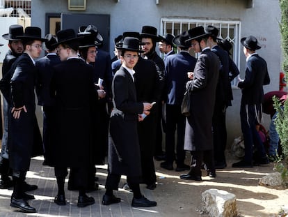
M213 149L205 151L191 151L191 169L189 174L201 176L202 163L206 164L207 170L209 170L209 172L215 172Z

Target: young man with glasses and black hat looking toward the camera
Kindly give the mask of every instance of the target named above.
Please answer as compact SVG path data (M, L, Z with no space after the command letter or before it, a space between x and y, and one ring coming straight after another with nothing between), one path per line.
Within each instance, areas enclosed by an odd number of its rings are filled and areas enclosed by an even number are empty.
M122 66L114 75L112 82L113 110L109 128L108 176L106 192L102 204L109 205L120 202L113 195L118 190L121 175L127 176L129 188L133 191L132 207L154 207L157 202L147 200L141 193L141 149L138 142L137 122L149 116L151 103L140 103L136 98L134 85L134 66L138 61L139 40L126 37L121 49Z

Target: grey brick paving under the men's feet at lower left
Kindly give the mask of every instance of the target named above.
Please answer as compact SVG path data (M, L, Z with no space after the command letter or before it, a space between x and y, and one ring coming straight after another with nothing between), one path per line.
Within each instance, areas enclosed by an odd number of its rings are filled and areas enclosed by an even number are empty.
M54 203L54 197L57 194L57 184L54 177L54 168L48 166L42 166L43 159L41 157L33 158L31 160L30 171L27 173L26 181L29 184L38 185L38 189L32 192L35 196L35 200L29 201L32 207L37 210L36 214L24 214L19 209L10 207L10 195L13 192L12 189L4 190L0 189L0 216L6 217L22 217L22 216L162 216L159 213L158 207L152 207L148 209L138 209L131 207L132 193L128 190L122 190L120 188L115 195L122 199L119 204L113 204L110 206L102 205L102 196L105 192L104 184L106 181L106 166L97 167L97 177L99 177L99 190L88 195L95 198L95 204L78 208L77 199L78 191L65 190L67 205L58 206ZM122 177L120 186L125 183L125 177ZM154 200L154 193L152 190L148 190L141 186L143 194L150 200ZM67 180L65 183L67 189Z

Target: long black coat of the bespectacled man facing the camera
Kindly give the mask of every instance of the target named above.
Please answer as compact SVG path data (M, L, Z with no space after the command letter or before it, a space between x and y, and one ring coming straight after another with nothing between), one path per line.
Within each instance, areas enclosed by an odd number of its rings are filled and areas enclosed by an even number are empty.
M109 128L109 172L141 177L137 122L138 114L143 112L143 103L137 103L133 78L122 66L113 77L112 93L114 108Z

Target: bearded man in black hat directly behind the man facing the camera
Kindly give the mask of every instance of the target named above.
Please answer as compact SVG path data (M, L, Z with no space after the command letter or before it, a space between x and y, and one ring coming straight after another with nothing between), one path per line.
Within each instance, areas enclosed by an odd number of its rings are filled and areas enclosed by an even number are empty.
M157 130L156 130L156 140L155 140L155 148L154 148L154 156L155 159L164 160L164 154L162 151L162 128L161 128L161 118L162 118L162 100L163 100L163 88L165 85L164 80L164 62L159 57L156 49L156 43L160 41L159 36L157 36L157 29L155 27L143 26L142 32L140 33L143 57L145 59L150 59L154 61L155 66L157 68L158 76L159 76L159 89L161 90L161 98L157 104L155 105L155 110L157 110Z

